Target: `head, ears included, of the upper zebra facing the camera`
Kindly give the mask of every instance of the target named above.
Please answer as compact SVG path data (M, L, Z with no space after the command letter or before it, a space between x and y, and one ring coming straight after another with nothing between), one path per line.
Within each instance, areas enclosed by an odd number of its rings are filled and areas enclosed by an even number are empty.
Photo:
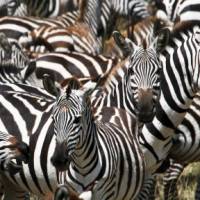
M156 112L156 103L160 94L161 64L158 53L168 41L168 29L149 45L135 45L128 38L124 38L119 32L113 36L122 49L128 62L126 62L125 88L127 104L133 107L133 113L141 122L149 122Z

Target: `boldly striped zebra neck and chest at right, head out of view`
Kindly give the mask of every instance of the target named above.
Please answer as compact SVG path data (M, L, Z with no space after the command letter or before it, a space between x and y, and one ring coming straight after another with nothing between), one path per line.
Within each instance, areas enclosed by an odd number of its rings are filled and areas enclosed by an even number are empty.
M192 22L177 25L160 55L163 76L158 112L151 123L143 126L139 137L150 174L156 172L168 155L175 128L199 91L199 30Z

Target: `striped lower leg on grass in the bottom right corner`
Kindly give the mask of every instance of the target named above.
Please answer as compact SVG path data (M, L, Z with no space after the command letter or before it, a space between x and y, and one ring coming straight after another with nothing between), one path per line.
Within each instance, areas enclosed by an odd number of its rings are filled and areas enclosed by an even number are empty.
M163 177L164 200L178 199L177 181L184 170L185 165L170 160L170 167Z

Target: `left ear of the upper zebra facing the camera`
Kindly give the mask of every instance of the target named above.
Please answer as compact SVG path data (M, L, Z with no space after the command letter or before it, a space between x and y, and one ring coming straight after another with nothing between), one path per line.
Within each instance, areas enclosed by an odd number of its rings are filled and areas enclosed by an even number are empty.
M125 38L120 32L114 31L113 38L117 46L122 50L123 56L129 56L135 49L135 44L128 38Z

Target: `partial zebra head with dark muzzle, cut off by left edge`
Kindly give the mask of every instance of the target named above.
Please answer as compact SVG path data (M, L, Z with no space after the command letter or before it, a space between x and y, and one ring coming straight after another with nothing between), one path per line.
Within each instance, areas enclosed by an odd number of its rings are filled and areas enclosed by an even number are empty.
M0 132L0 163L1 169L17 172L21 165L12 162L29 160L29 147L26 143L19 141L15 136L5 132Z

